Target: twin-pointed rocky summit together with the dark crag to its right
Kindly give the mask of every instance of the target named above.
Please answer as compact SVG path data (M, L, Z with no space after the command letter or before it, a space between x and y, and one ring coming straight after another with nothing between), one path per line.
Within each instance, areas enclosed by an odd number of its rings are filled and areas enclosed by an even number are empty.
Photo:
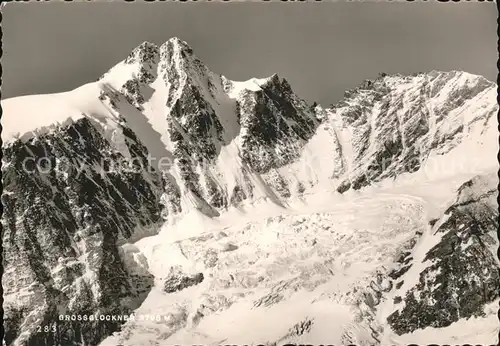
M293 93L285 79L273 75L230 81L210 71L177 38L160 47L140 45L103 81L115 83L116 71L125 68L122 65L133 70L125 82L131 91L122 91L130 104L142 107L150 99L142 96L141 90L147 88L156 90L153 98L158 103L164 102L162 127L174 159L171 172L186 208L194 203L205 213L217 215L217 210L254 198L260 182L252 175L292 162L319 125L314 110ZM137 77L136 71L142 70L154 70L151 75L157 79ZM232 162L221 163L221 151L233 144ZM221 165L235 168L228 173ZM234 183L228 186L227 181Z

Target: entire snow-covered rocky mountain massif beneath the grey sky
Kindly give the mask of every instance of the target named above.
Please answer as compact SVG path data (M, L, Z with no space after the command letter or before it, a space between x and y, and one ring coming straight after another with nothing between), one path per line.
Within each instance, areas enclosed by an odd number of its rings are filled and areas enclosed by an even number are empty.
M402 344L491 318L481 76L381 74L325 108L173 38L2 109L8 345ZM164 318L58 317L133 311Z

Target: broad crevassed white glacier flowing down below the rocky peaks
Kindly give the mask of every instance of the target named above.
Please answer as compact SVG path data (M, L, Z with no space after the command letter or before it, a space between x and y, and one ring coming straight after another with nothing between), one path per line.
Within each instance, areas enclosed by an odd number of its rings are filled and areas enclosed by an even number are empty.
M147 246L143 251L151 268L159 263L181 265L207 276L203 284L178 293L166 294L157 287L136 311L170 316L180 310L185 320L172 325L129 323L102 345L137 345L145 340L158 344L285 342L294 338L286 336L289 329L306 319L315 322L301 342L343 343L359 313L360 298L352 291L365 287L378 269L388 265L401 243L425 229L426 220L421 205L413 200L374 196L344 201L323 213L288 211L244 227L218 227L223 233L199 229L199 235L173 242L167 240L168 229L152 242L155 252ZM141 248L145 240L136 246ZM215 267L206 268L203 261L210 251L218 254L218 260ZM167 269L155 275L161 279ZM219 302L224 304L218 307ZM212 307L213 312L206 312ZM195 317L198 310L205 316L201 322ZM343 321L334 333L327 323L332 320ZM362 335L358 342L372 341Z

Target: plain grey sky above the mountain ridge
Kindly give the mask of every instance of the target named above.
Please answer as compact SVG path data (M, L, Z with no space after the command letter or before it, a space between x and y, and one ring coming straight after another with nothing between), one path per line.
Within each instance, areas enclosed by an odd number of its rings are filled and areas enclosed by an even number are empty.
M74 89L173 36L229 79L278 73L323 105L379 72L497 78L488 2L16 2L2 14L2 99Z

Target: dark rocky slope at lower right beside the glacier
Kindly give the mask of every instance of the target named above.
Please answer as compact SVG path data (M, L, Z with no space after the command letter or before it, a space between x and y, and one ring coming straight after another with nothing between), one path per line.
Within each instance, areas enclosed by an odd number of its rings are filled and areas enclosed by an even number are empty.
M435 224L439 241L421 263L408 258L410 266L423 269L415 284L397 292L396 310L387 319L397 334L481 316L485 304L498 298L497 185L496 174L462 185L455 203ZM411 280L404 273L398 277L403 283Z

